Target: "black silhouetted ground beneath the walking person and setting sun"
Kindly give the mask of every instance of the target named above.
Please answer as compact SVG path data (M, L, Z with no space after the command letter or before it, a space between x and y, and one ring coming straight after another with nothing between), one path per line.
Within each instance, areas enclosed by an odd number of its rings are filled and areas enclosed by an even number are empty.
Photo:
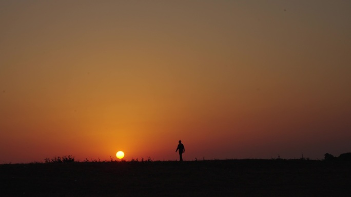
M0 196L351 196L351 163L312 160L0 165Z

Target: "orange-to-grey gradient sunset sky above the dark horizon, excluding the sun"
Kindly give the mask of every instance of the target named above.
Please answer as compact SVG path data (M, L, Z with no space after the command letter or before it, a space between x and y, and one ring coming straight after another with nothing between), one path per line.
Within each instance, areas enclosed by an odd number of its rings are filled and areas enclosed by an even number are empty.
M351 152L351 1L0 0L0 163Z

